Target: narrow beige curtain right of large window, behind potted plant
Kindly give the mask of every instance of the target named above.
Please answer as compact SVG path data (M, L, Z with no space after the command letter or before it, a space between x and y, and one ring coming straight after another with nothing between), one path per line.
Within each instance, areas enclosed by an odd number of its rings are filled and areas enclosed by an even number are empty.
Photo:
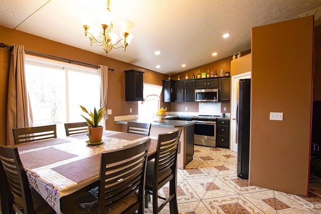
M98 76L100 78L100 106L104 108L104 121L103 126L105 127L105 120L108 119L107 116L107 94L108 94L108 67L104 65L99 65Z

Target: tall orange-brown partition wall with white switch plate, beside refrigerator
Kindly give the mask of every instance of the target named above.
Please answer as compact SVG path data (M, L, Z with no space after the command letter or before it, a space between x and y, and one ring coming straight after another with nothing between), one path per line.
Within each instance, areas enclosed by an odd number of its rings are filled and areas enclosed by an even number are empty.
M251 52L249 183L307 195L313 17L253 28Z

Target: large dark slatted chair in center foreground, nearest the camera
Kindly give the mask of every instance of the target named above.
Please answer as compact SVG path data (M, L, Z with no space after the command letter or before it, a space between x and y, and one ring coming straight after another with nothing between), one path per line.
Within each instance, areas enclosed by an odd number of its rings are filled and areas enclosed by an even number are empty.
M98 203L94 203L90 213L134 213L136 210L143 213L149 144L150 139L146 139L101 153ZM79 206L76 210L81 210ZM79 212L82 211L76 211Z

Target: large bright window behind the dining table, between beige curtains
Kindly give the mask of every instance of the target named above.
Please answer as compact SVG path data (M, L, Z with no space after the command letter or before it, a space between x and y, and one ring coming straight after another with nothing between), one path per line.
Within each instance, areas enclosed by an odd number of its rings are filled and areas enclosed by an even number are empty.
M34 126L57 124L64 136L64 123L84 121L79 105L100 106L97 69L26 55L25 72Z

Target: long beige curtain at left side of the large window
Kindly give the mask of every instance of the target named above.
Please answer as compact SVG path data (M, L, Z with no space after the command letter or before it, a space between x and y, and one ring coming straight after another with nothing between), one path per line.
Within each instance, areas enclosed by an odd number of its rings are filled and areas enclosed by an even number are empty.
M7 145L15 144L13 128L32 125L32 111L25 79L25 50L22 45L14 45L8 82Z

